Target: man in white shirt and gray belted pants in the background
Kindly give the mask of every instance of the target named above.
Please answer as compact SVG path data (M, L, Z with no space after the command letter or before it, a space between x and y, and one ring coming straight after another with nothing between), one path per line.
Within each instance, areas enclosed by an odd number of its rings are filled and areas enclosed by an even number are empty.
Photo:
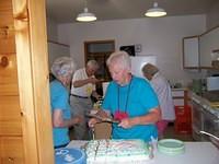
M91 95L96 99L101 97L95 91L95 84L100 82L94 77L99 69L99 63L95 60L89 60L85 68L77 70L71 81L70 104L72 106L72 114L84 118L83 122L78 124L73 128L73 137L77 140L91 139L91 132L88 127L85 114L93 108Z

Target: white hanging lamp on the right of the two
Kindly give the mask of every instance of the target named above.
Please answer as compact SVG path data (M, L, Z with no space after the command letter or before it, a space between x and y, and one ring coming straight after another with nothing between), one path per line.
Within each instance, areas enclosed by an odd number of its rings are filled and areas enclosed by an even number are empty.
M158 7L158 2L154 2L154 3L153 3L153 8L149 9L149 10L145 13L145 15L146 15L146 16L149 16L149 17L159 17L159 16L164 16L164 15L166 15L166 12L165 12L164 9Z

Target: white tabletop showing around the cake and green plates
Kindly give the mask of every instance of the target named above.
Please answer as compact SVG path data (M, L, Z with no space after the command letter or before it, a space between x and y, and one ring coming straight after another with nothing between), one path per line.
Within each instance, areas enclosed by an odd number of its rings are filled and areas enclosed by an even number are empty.
M71 141L68 148L80 148L87 141ZM147 164L219 164L219 150L211 142L185 142L185 153L165 155L154 149L154 157Z

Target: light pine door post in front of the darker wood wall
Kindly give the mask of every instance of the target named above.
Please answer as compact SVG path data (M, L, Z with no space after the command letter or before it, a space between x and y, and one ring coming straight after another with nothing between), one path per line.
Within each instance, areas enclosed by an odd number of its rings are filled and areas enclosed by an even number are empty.
M53 164L45 0L12 0L24 161Z

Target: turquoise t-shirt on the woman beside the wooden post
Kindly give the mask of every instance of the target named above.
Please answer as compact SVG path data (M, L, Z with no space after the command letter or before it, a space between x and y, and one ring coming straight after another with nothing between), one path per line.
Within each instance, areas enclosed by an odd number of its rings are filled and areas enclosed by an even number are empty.
M51 114L55 109L62 110L64 119L70 119L70 104L68 90L57 80L50 82L50 108ZM67 144L70 139L68 128L53 128L54 147Z

